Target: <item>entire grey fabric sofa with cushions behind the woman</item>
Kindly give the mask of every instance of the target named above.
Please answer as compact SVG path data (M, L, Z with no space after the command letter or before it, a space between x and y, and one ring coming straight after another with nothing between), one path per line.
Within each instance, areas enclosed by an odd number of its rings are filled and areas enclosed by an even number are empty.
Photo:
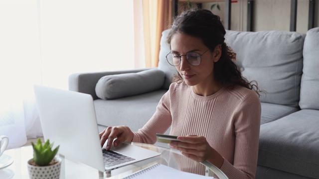
M92 95L100 130L127 125L137 131L151 118L176 73L165 59L167 32L157 68L69 76L69 90ZM226 43L243 76L266 91L256 179L319 179L319 28L307 34L227 30Z

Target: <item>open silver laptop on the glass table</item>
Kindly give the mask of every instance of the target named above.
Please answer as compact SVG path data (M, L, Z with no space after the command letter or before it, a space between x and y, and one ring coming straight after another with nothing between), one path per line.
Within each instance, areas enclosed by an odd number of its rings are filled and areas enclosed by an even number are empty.
M100 172L127 166L159 156L160 153L128 143L112 146L112 155L123 155L125 162L112 162L104 158L105 145L101 147L93 98L90 94L34 85L43 137L59 147L65 158L93 167Z

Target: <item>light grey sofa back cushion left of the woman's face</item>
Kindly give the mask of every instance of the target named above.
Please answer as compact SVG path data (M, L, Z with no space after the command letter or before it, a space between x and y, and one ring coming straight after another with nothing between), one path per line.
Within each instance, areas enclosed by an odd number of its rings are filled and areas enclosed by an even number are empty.
M160 39L160 56L159 56L159 67L158 69L165 73L165 81L163 85L163 89L169 89L169 85L171 84L171 80L174 74L177 74L177 70L175 67L168 64L166 60L166 55L170 52L170 47L166 42L166 37L169 32L169 29L164 30L161 34Z

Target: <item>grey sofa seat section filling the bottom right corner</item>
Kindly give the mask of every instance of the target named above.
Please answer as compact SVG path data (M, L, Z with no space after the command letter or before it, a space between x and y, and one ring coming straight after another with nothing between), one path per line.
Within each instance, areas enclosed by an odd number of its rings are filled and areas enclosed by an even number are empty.
M302 109L260 126L258 165L318 179L319 110Z

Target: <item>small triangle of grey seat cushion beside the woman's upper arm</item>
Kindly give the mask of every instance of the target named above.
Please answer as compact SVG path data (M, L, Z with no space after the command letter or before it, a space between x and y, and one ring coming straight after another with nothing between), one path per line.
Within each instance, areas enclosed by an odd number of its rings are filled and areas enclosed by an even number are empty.
M281 104L272 104L267 102L261 102L261 122L265 124L277 119L280 119L293 112L299 111L298 107L286 106Z

